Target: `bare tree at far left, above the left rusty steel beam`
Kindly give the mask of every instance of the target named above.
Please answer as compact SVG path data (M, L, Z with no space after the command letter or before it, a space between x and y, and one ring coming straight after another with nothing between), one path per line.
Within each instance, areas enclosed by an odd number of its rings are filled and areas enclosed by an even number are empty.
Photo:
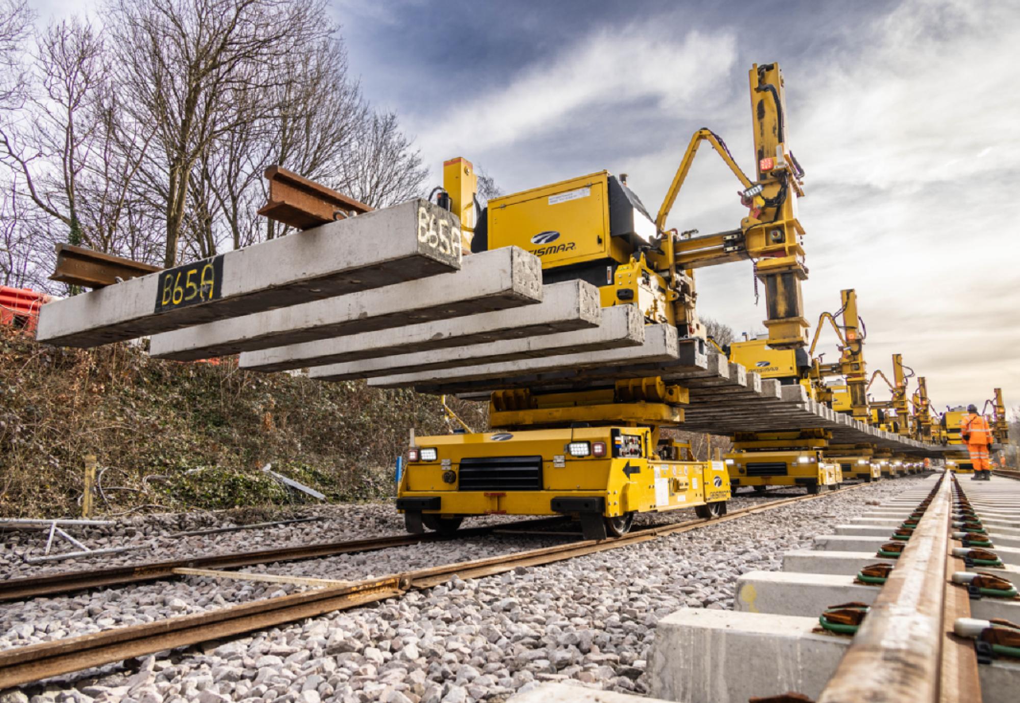
M50 24L36 37L35 80L21 119L0 128L0 160L11 168L17 195L36 209L24 217L22 208L20 226L32 228L44 260L54 241L101 252L123 244L128 187L147 138L120 120L107 59L88 22Z

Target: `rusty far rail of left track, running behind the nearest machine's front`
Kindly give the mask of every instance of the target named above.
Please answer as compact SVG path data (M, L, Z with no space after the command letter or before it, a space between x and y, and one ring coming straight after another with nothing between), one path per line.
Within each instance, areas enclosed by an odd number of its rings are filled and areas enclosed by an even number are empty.
M390 537L374 537L371 539L348 540L344 542L325 542L321 544L274 547L256 551L234 552L230 554L211 554L208 556L193 556L185 559L154 561L110 566L107 569L76 572L60 572L44 576L24 577L0 581L0 602L24 600L42 596L54 596L92 588L110 586L126 586L129 584L159 581L180 578L173 573L175 569L239 569L274 561L302 561L305 559L323 558L339 554L376 551L390 547L402 547L421 542L437 542L463 537L478 537L496 530L513 528L534 528L545 525L555 525L563 522L563 518L542 518L525 520L502 525L468 528L458 531L455 535L445 536L429 532L423 535L393 535Z

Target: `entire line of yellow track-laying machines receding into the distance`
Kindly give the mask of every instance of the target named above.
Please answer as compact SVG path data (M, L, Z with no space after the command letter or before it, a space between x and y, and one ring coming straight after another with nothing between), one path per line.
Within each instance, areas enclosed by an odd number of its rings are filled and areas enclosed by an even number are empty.
M894 357L888 400L869 398L865 328L854 290L840 308L819 319L808 343L801 284L805 231L798 199L805 172L787 143L785 88L778 64L750 73L754 177L736 164L710 129L692 138L658 214L653 218L625 177L608 171L478 203L470 162L444 165L441 203L460 217L464 249L477 253L515 246L540 257L544 281L582 279L599 287L603 307L636 306L650 325L675 326L683 338L706 338L696 311L697 269L752 261L766 299L767 334L732 342L720 352L763 378L802 384L811 398L833 410L931 445L960 445L960 410L936 415L925 380L909 394L912 372ZM700 235L667 226L673 204L699 148L707 143L740 182L747 207L740 226ZM814 353L825 325L840 357L823 363ZM882 375L882 377L884 377ZM609 379L567 390L537 384L496 389L487 432L415 436L399 483L397 506L407 529L449 532L464 518L483 515L564 515L580 521L586 537L630 529L640 512L694 507L711 518L725 512L740 487L803 486L809 493L850 479L874 481L920 472L919 459L868 444L831 442L829 431L742 432L725 456L697 459L691 445L666 436L682 429L687 389L647 377ZM1005 409L996 391L993 425L1006 439ZM965 452L949 466L967 471Z

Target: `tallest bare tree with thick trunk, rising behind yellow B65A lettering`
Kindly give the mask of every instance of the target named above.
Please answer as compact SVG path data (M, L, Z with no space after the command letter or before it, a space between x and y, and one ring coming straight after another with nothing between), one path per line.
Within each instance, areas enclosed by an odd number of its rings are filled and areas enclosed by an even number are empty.
M272 113L275 61L327 37L323 18L319 0L113 0L119 85L132 116L156 127L146 174L163 201L164 266L176 263L192 169L216 140Z

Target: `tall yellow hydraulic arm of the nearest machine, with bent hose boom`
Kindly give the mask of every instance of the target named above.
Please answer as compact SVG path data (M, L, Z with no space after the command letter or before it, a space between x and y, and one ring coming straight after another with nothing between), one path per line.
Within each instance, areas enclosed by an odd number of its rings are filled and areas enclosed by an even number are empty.
M801 281L807 278L801 244L804 228L797 219L797 199L804 196L804 171L786 146L785 93L779 64L755 64L750 82L757 180L751 181L744 174L722 140L700 129L680 161L656 224L665 230L698 147L707 141L741 181L741 200L750 212L737 230L691 237L672 233L671 267L691 276L694 269L703 266L753 260L755 275L765 285L769 346L800 348L807 343L808 329L801 296Z

